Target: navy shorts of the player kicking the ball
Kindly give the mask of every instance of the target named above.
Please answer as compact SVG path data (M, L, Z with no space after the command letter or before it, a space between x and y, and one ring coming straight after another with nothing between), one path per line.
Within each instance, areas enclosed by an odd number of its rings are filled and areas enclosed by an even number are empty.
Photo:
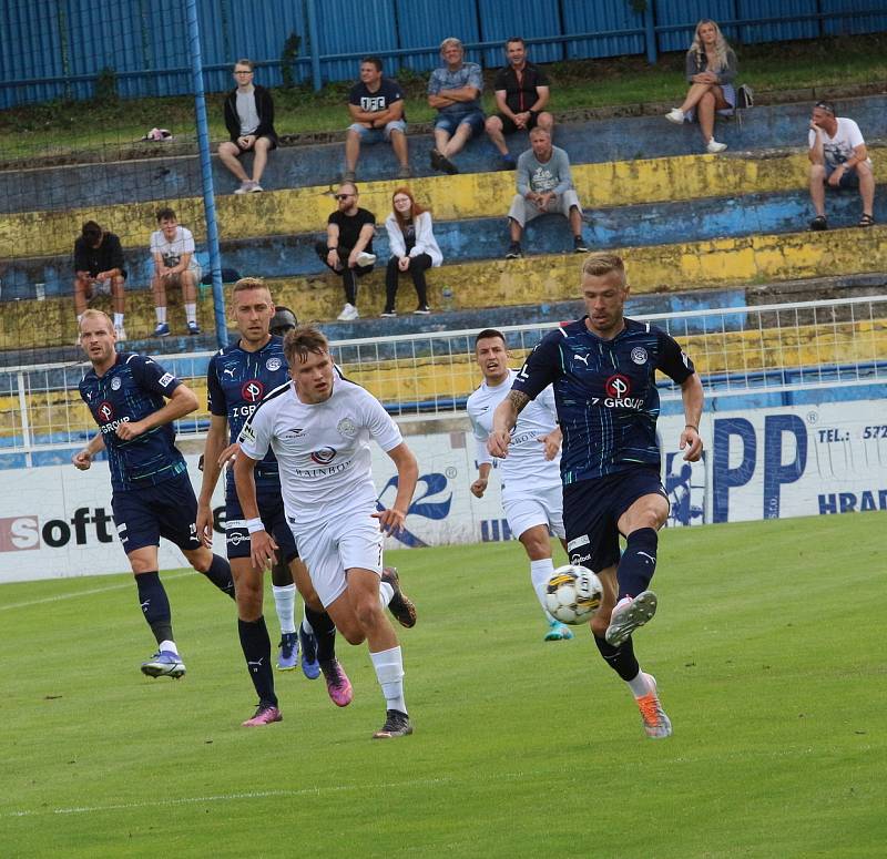
M619 563L619 518L643 495L662 495L659 471L639 466L563 488L563 524L571 564L594 572Z

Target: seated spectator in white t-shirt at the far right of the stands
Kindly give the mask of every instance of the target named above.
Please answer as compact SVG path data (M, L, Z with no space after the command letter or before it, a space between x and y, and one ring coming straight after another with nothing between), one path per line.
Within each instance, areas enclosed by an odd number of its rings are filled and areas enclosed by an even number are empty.
M810 198L816 217L810 229L828 229L825 216L825 190L859 188L863 198L860 227L875 223L875 174L859 126L846 116L835 116L835 105L816 102L810 117L809 160Z

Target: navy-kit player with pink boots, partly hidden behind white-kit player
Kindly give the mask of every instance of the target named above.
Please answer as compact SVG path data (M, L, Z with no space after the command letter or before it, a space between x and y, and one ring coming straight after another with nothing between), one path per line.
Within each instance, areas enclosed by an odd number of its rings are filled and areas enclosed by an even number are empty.
M274 301L265 284L255 277L244 277L235 285L231 300L237 324L237 341L216 352L207 369L211 423L204 451L203 484L197 512L197 534L204 545L212 544L213 490L233 444L262 398L289 379L282 339L269 334L275 314ZM294 319L295 321L295 319ZM295 327L295 326L294 326ZM335 657L335 626L323 609L305 565L298 560L293 532L284 515L277 460L268 456L256 467L256 489L264 526L274 535L278 560L286 564L287 580L274 573L274 594L283 632L278 667L294 667L297 656L294 622L295 585L305 600L305 621L299 626L303 671L315 679L323 671L330 698L338 706L351 701L351 685ZM263 616L262 567L249 558L249 531L243 514L234 475L228 471L225 485L225 541L236 582L237 627L253 681L258 706L255 715L244 722L247 727L279 722L281 710L274 689L271 667L271 638ZM292 572L290 572L292 571ZM288 587L286 586L288 583Z

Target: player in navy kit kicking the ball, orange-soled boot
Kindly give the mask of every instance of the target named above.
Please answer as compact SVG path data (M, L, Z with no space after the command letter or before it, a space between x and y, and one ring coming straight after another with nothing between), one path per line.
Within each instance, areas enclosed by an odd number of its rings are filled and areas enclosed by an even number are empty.
M587 316L544 337L529 356L496 410L489 450L495 457L507 454L520 410L552 385L563 432L570 561L600 576L604 596L591 621L594 642L634 694L648 736L659 738L671 735L671 722L655 679L638 664L631 637L656 610L649 585L656 565L656 532L669 514L660 481L655 371L681 386L686 426L680 447L691 462L702 456L703 393L693 362L665 331L623 316L628 295L620 257L585 259ZM621 556L620 534L626 541Z

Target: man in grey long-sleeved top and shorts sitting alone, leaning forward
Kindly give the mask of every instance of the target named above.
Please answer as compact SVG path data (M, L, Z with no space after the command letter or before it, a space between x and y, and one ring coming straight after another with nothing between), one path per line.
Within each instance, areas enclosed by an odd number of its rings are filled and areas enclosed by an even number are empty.
M582 239L582 206L573 186L570 158L560 146L551 145L551 134L541 127L530 132L530 147L518 158L518 193L511 201L508 221L511 245L506 259L522 255L520 238L529 221L555 213L570 222L573 253L588 250Z

